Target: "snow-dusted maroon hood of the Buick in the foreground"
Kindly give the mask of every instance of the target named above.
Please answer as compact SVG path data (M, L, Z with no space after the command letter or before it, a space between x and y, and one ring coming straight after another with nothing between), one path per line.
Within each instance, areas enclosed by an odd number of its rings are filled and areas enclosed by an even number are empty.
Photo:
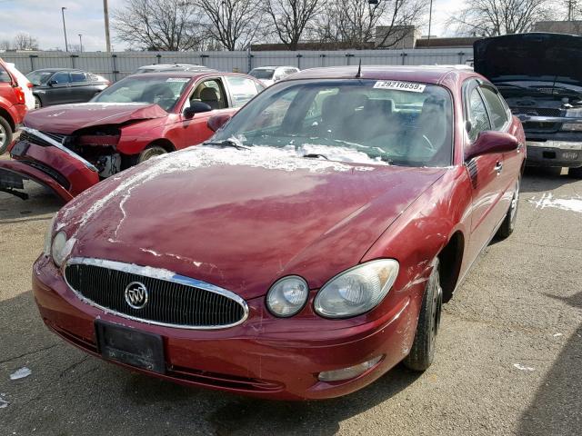
M55 229L73 257L162 268L244 298L287 274L316 289L445 171L197 146L98 183Z

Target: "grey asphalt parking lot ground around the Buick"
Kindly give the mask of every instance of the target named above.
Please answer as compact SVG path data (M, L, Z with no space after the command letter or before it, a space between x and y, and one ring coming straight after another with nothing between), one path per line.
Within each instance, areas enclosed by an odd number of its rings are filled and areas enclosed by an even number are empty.
M31 265L59 203L0 193L0 435L567 435L582 428L582 181L528 171L517 231L445 307L435 364L330 401L273 402L128 372L48 332ZM27 367L31 375L11 380Z

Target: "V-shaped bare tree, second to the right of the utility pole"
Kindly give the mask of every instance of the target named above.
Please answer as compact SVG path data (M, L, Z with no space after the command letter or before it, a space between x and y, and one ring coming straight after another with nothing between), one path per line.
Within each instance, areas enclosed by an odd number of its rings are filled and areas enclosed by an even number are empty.
M208 20L209 36L226 50L246 48L261 25L260 0L196 0Z

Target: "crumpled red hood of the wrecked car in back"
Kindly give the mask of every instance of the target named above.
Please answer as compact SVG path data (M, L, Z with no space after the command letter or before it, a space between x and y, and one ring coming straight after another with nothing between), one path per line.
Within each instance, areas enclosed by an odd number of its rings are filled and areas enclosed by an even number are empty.
M25 125L44 132L72 134L94 125L124 124L164 116L167 116L166 111L157 104L60 104L29 112L25 116Z

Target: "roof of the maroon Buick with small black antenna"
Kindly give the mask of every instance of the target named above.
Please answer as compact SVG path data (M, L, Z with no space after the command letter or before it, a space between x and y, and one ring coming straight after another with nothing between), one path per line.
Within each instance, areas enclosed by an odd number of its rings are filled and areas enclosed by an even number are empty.
M351 79L356 78L357 65L352 66L328 66L323 68L310 68L293 74L286 80L301 79ZM440 83L447 74L457 76L476 75L468 68L457 68L451 65L362 65L362 79L376 80L408 80L413 82L425 82L428 84Z

